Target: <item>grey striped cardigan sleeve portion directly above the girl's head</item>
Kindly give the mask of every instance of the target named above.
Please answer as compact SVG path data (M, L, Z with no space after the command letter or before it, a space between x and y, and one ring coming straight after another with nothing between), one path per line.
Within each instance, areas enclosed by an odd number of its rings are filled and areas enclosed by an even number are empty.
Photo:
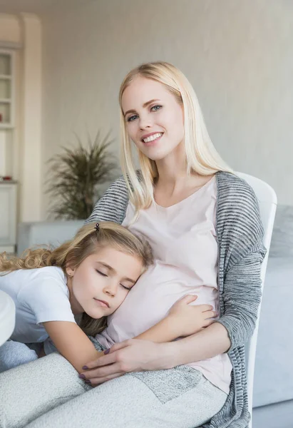
M113 221L121 224L128 205L128 191L123 176L115 180L106 193L98 200L93 213L85 221Z

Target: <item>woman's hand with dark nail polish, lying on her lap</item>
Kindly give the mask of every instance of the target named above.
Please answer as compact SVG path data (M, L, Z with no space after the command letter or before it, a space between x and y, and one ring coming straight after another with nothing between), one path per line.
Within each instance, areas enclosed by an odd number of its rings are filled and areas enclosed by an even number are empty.
M107 355L88 362L85 366L88 369L83 370L80 375L82 379L90 380L93 386L128 372L163 370L174 367L173 343L130 339L116 343L107 351Z

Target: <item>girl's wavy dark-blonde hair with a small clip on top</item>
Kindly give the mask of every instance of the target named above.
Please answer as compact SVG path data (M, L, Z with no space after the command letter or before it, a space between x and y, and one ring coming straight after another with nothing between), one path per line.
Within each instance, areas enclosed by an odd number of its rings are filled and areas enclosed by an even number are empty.
M121 253L127 253L142 261L142 273L153 263L153 254L150 244L139 238L117 223L105 221L88 223L78 230L72 240L68 240L58 248L38 248L26 250L20 257L7 257L6 253L0 254L0 272L4 275L19 269L36 269L38 267L57 266L66 274L66 266L76 269L89 255L105 247L115 248ZM82 330L90 336L94 336L106 327L106 317L95 320L86 312L83 312Z

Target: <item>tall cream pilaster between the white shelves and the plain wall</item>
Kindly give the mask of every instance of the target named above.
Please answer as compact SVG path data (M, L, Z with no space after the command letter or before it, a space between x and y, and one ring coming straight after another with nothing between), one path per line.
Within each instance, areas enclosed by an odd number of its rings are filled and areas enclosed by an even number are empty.
M41 144L41 21L34 14L21 14L24 40L22 64L21 128L21 220L42 220Z

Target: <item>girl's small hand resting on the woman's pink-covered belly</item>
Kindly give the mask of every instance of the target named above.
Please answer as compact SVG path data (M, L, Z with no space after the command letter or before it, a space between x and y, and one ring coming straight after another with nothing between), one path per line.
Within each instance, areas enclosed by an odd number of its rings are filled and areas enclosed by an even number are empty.
M190 305L197 296L187 295L178 300L168 313L168 319L178 337L194 335L204 327L211 325L217 313L211 305Z

